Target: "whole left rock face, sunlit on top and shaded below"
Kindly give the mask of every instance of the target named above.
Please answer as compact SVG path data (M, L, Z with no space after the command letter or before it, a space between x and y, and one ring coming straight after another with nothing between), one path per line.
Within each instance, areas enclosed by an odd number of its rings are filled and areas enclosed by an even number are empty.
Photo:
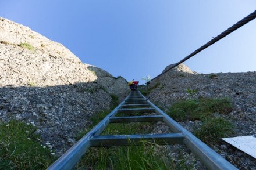
M94 113L129 93L127 81L82 63L67 48L0 17L0 121L36 126L57 155L74 143ZM51 144L49 144L51 143Z

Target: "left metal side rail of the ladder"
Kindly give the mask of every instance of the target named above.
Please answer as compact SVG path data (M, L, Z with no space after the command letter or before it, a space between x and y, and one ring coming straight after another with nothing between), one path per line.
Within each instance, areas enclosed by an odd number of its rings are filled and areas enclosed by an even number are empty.
M130 95L126 97L128 99ZM125 99L125 100L126 100ZM75 143L69 150L66 151L61 157L58 158L48 170L55 170L55 169L72 169L74 165L80 160L80 158L86 153L89 147L92 146L91 138L94 135L99 135L105 127L109 124L109 120L111 117L114 117L117 113L118 109L125 103L123 100L114 110L111 111L102 121L100 121L96 126L94 126L91 131L89 131L86 135L83 136L77 143Z

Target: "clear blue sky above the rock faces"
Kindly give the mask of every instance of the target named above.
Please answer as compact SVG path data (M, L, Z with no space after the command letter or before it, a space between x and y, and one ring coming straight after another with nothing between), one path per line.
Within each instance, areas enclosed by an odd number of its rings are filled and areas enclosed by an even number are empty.
M0 1L1 17L127 81L156 77L255 10L255 0ZM184 64L205 74L256 71L256 19Z

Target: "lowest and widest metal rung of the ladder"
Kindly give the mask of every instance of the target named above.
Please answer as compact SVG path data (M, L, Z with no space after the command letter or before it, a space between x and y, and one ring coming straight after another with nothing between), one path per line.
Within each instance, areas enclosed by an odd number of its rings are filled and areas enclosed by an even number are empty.
M104 135L94 136L91 139L91 146L129 146L143 145L147 140L152 144L184 144L184 135L182 133L162 133L152 135Z

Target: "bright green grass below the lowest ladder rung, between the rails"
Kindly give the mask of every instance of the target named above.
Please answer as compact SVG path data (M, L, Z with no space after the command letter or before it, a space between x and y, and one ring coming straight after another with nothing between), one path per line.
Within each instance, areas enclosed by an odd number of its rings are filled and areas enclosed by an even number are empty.
M172 169L162 146L141 140L141 146L92 147L77 169Z

